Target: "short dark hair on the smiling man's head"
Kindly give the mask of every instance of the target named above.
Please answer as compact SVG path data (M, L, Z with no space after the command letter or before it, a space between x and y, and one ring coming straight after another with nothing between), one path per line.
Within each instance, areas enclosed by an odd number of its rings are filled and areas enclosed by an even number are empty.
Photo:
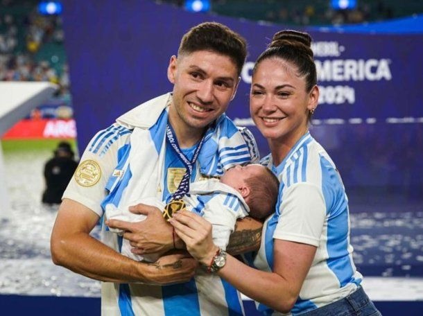
M228 56L236 64L239 76L247 57L247 42L241 35L223 24L205 22L185 33L178 55L196 51L213 51Z

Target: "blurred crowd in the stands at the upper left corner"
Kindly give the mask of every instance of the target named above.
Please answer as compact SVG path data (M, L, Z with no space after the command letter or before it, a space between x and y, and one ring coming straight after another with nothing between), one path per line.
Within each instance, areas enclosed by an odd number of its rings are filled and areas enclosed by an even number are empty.
M1 0L0 6L0 80L49 81L59 85L58 96L69 94L60 17L40 15L36 1Z

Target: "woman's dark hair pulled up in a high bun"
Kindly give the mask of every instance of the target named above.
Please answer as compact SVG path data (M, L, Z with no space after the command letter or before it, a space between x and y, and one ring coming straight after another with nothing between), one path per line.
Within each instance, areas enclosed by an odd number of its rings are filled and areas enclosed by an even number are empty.
M297 67L297 74L306 78L307 92L317 84L316 64L311 50L311 37L307 33L297 30L281 30L273 35L272 42L266 51L261 53L252 73L257 69L260 62L268 58L280 58Z

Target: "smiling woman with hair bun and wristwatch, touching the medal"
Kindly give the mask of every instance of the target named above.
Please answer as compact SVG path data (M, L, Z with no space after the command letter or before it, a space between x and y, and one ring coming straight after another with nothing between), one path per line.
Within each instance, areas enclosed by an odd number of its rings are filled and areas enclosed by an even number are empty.
M195 214L182 211L171 224L193 257L268 315L381 315L352 261L340 175L308 131L319 97L310 44L307 33L276 33L253 69L250 112L271 151L262 163L281 183L254 259L259 270L226 256L212 243L209 223Z

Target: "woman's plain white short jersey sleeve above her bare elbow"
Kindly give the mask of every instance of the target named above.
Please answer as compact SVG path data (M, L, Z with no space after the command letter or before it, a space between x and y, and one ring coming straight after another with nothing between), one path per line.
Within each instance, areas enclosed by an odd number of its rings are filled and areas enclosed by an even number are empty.
M318 247L326 217L322 191L315 184L297 183L283 193L273 238Z

